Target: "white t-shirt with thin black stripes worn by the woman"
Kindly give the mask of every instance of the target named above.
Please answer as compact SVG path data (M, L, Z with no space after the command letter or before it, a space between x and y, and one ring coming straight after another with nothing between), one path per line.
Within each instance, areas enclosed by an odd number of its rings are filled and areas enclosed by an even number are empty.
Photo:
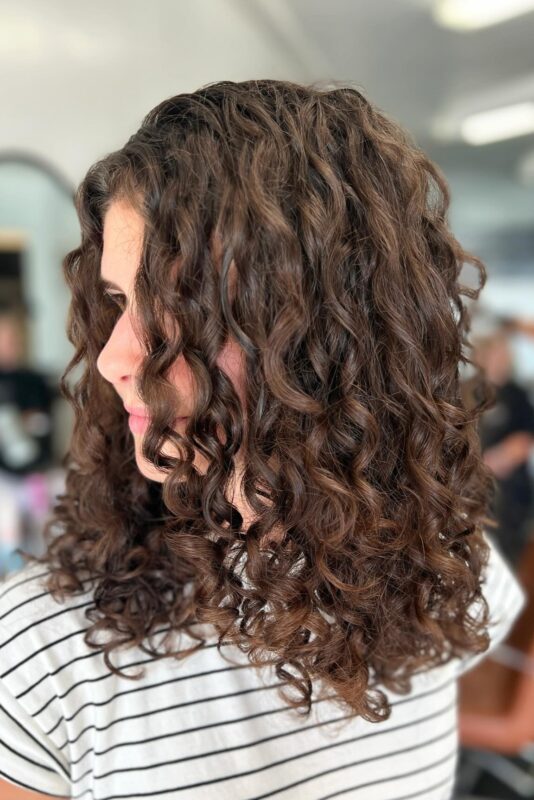
M490 543L484 594L494 647L526 595ZM272 668L251 667L233 646L223 649L226 661L215 636L181 661L113 650L112 662L129 674L145 668L138 681L114 675L83 641L90 593L56 603L43 588L43 569L28 565L0 584L3 779L77 800L453 796L456 679L487 652L415 676L409 695L387 692L385 722L343 726L330 700L302 719L279 696ZM181 634L180 641L188 640Z

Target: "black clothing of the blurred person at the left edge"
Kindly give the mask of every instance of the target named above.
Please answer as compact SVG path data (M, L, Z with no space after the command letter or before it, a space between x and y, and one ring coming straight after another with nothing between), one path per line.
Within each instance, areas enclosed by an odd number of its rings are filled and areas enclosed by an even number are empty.
M35 470L46 469L52 461L52 402L54 392L40 372L27 367L5 369L0 367L0 411L7 406L16 407L22 415L29 411L39 411L48 417L48 430L43 420L43 431L28 433L36 443L35 455L25 463L16 466L7 458L5 447L0 440L0 469L13 475L26 475ZM5 442L4 442L5 444Z

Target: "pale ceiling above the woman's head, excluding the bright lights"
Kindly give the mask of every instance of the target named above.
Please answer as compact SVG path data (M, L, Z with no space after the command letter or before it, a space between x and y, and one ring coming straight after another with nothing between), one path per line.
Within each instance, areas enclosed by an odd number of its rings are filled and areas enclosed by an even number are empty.
M492 199L492 224L495 214L505 225L529 224L534 189L518 185L516 168L534 150L534 136L484 147L444 144L432 138L432 123L502 97L534 99L534 14L456 33L433 22L431 6L0 0L0 154L17 148L45 157L76 184L164 97L221 79L350 80L409 128L453 188L463 178L466 210L473 191L478 217L485 216L489 181L504 193ZM483 191L477 176L486 181Z

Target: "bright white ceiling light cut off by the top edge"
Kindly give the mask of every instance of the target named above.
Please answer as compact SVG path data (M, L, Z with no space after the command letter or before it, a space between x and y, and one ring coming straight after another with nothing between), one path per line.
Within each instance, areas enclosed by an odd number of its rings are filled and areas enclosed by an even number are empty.
M459 31L498 25L534 10L534 0L437 0L434 19Z

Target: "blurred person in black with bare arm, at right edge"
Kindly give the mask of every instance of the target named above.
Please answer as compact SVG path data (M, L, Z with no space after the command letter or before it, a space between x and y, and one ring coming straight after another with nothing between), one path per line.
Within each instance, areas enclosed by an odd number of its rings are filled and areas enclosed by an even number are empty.
M530 530L534 487L528 460L534 444L534 407L514 375L510 330L510 322L503 322L478 339L475 358L496 391L495 403L479 426L484 461L497 480L493 511L498 528L492 533L515 567Z

